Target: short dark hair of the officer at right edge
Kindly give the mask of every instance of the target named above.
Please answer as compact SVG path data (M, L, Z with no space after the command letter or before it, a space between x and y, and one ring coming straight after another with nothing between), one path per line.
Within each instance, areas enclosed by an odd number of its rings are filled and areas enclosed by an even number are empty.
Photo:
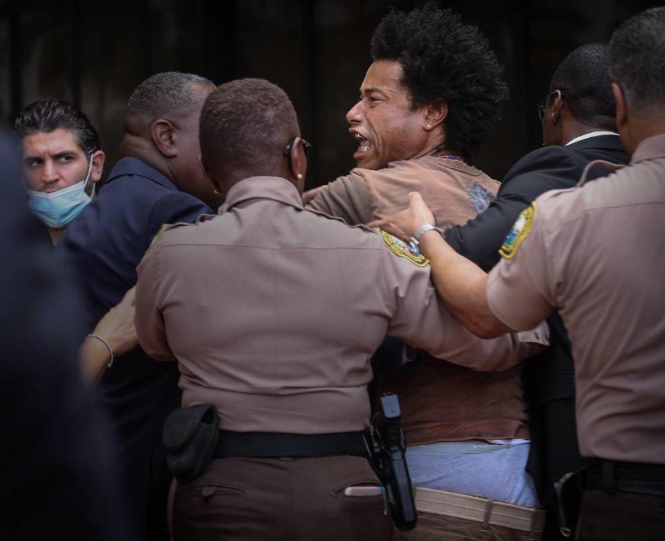
M652 8L624 22L610 40L610 77L628 106L648 111L665 98L665 8Z

